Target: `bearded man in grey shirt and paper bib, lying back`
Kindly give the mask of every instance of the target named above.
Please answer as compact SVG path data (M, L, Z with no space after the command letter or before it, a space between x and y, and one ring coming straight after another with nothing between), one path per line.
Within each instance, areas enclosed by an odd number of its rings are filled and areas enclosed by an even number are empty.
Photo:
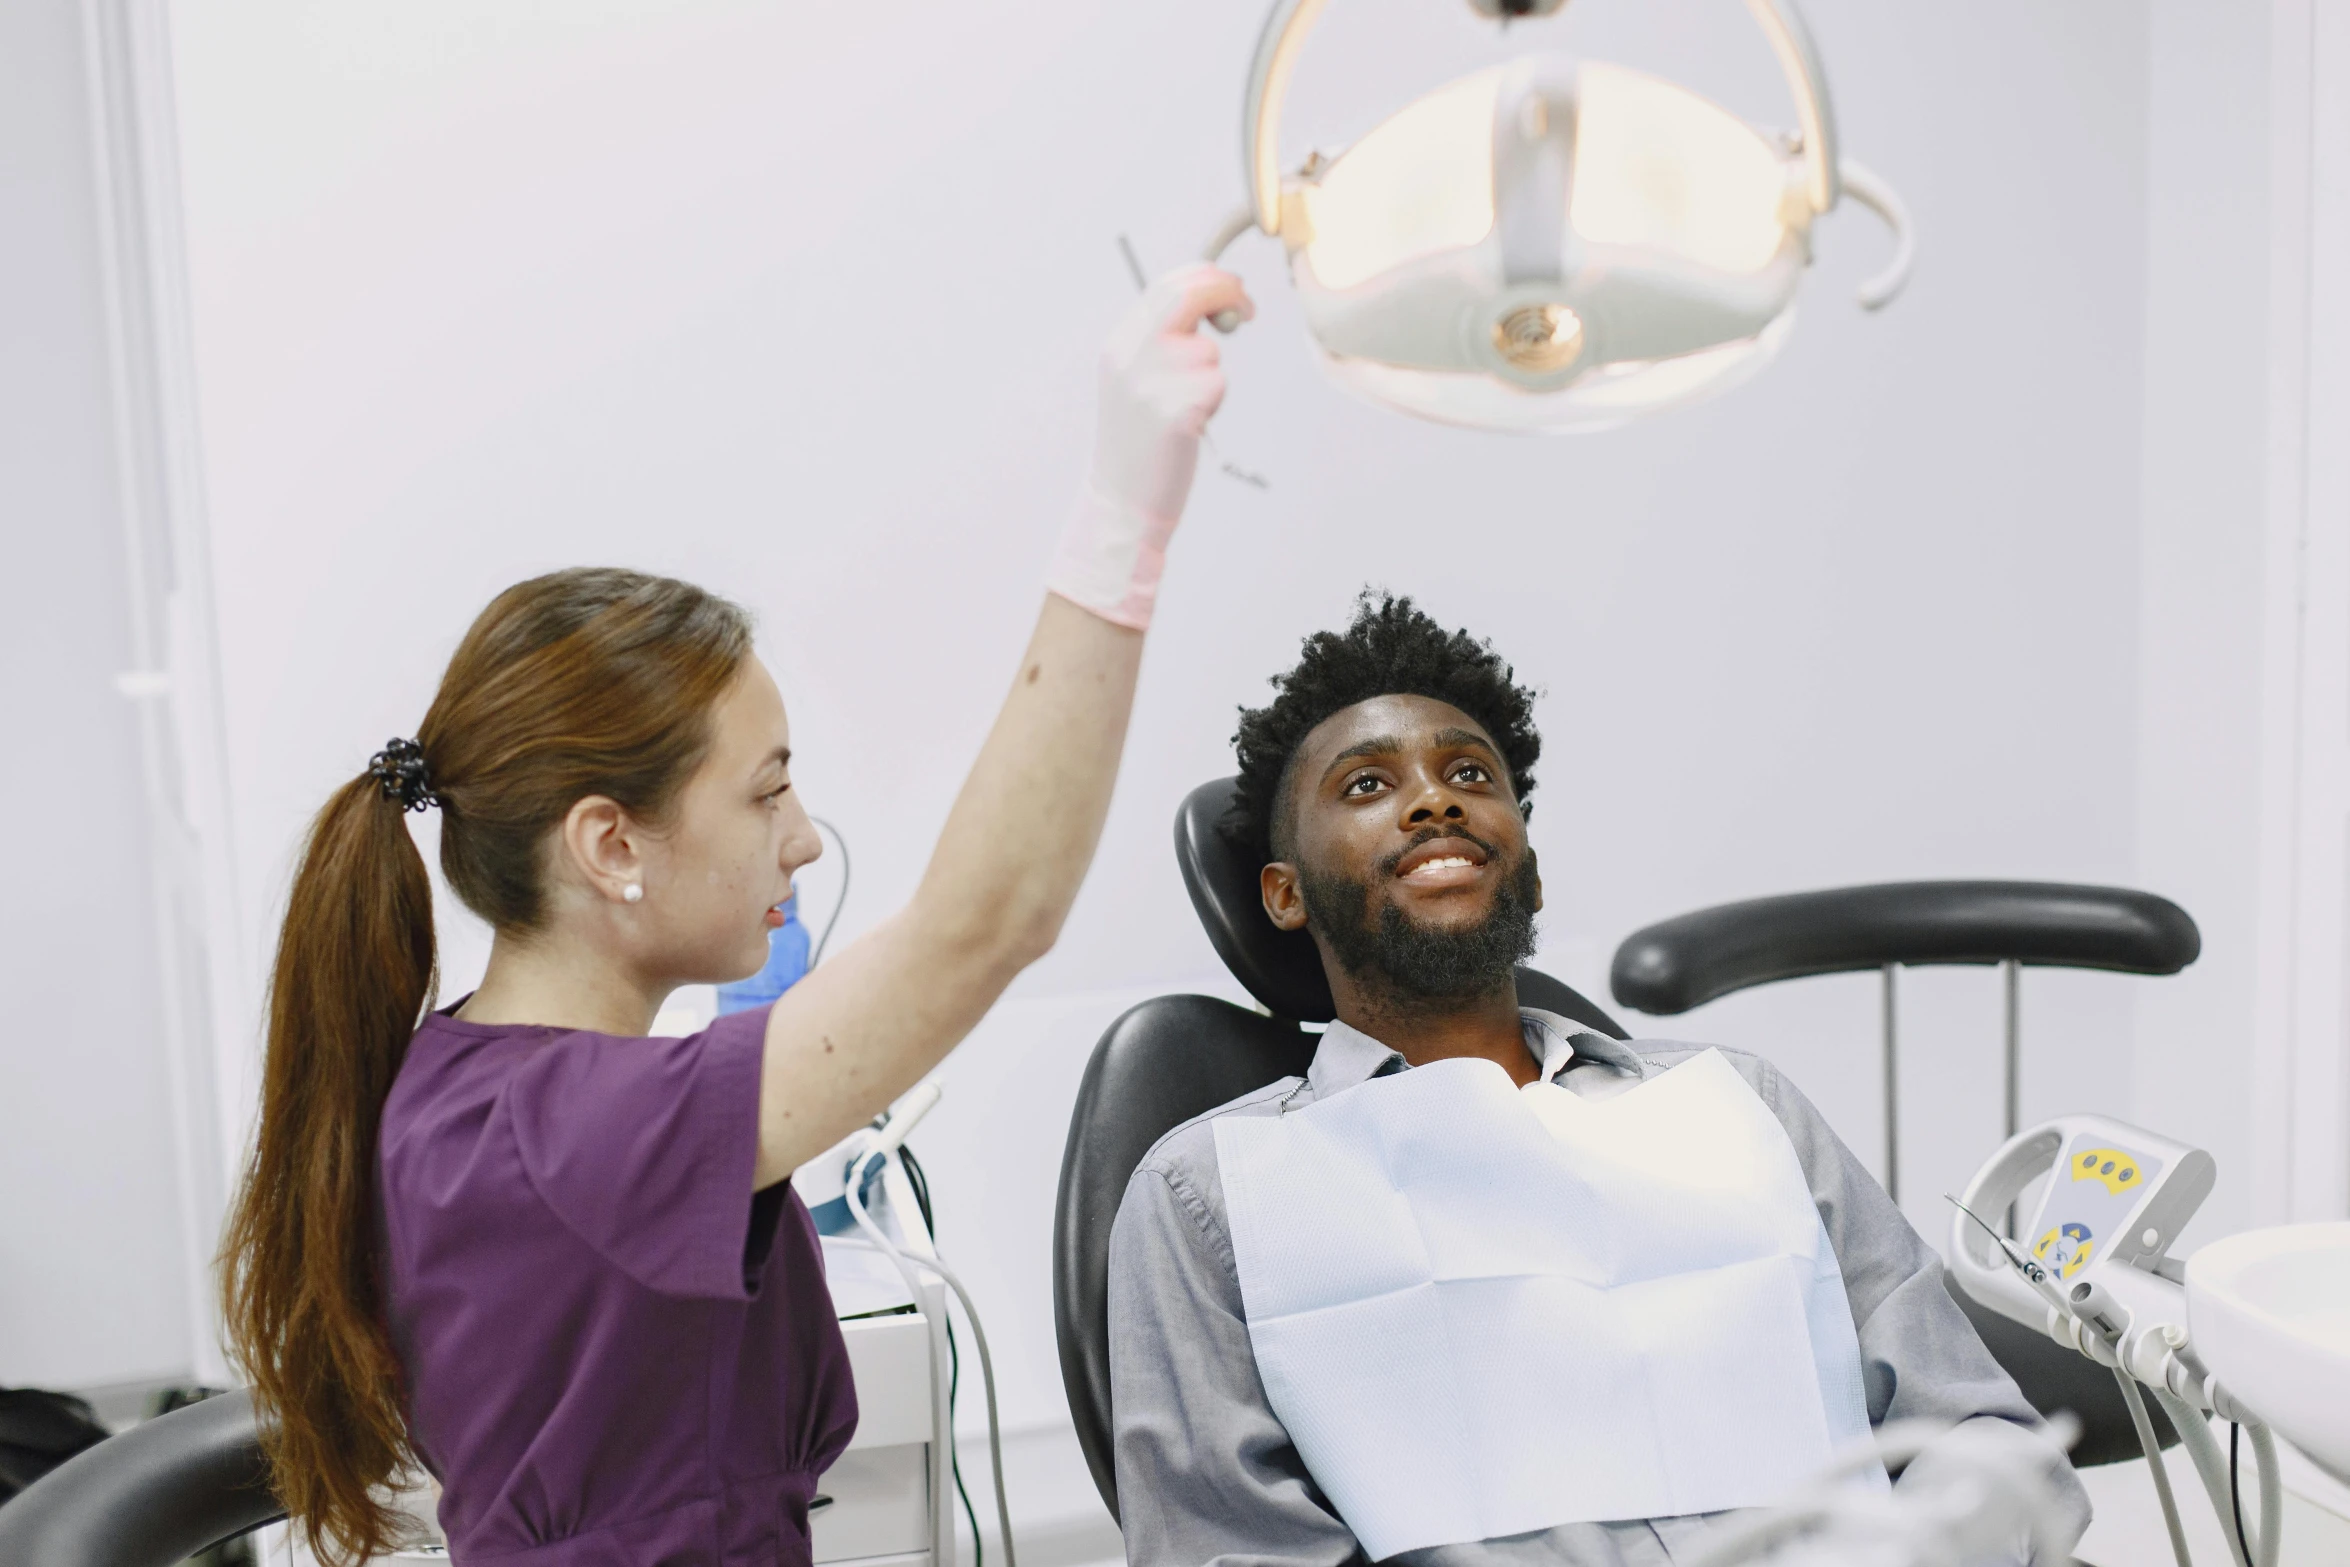
M1274 686L1227 832L1337 1022L1126 1189L1133 1567L1645 1567L1887 1419L2033 1440L1939 1257L1767 1062L1518 1006L1542 740L1490 646L1365 592Z

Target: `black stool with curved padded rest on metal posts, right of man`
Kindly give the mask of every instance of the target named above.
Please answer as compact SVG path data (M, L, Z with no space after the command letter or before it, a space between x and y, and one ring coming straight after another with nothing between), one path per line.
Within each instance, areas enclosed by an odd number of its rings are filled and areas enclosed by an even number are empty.
M1899 1013L1901 968L1998 966L2007 984L2002 1052L2007 1135L2016 1135L2023 1050L2023 968L2103 968L2174 975L2202 951L2202 933L2169 897L2129 888L2054 881L1894 881L1788 893L1697 909L1636 930L1617 947L1607 984L1640 1013L1687 1013L1732 991L1810 975L1885 975L1885 1189L1901 1193ZM1998 1215L1983 1215L2000 1222ZM2012 1224L2009 1224L2012 1229ZM2042 1414L2073 1410L2082 1421L2075 1468L2141 1457L2129 1407L2113 1374L2047 1334L1979 1306L1943 1280L1993 1358ZM2164 1447L2178 1442L2155 1414Z

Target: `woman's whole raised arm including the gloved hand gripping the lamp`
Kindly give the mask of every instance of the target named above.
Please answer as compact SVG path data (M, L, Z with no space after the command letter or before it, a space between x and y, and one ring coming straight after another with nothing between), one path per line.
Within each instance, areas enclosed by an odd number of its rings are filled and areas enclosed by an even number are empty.
M1194 265L1112 334L1086 493L914 900L768 1015L761 1186L912 1088L1060 937L1109 813L1166 540L1224 395L1198 324L1229 308L1248 312L1238 280Z

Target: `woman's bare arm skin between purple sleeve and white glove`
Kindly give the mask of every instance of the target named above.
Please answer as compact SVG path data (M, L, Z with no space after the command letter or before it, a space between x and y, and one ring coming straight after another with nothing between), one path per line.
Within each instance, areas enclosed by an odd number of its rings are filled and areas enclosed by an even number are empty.
M1142 632L1046 597L914 900L768 1015L759 1184L912 1088L1050 949L1102 836Z

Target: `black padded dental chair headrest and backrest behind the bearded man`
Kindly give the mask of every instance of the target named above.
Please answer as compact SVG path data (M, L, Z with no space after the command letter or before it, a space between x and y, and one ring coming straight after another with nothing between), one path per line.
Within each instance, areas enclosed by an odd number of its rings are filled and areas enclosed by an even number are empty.
M1255 860L1217 832L1231 787L1231 778L1220 778L1191 789L1175 813L1175 860L1215 954L1264 1013L1213 996L1159 996L1119 1017L1086 1064L1060 1161L1053 1210L1060 1379L1093 1485L1112 1513L1119 1478L1109 1452L1109 1224L1126 1182L1152 1144L1191 1116L1304 1074L1321 1036L1297 1024L1332 1017L1314 937L1264 919ZM1532 968L1518 970L1518 1001L1629 1038L1598 1006Z

